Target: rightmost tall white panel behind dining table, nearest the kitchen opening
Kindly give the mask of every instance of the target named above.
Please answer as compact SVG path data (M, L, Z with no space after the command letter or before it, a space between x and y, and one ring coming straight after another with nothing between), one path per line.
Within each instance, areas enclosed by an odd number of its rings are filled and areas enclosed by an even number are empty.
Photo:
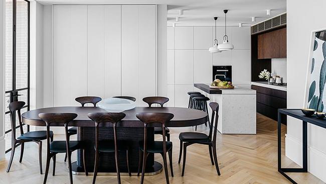
M142 106L143 97L155 96L155 6L122 6L121 10L121 92Z

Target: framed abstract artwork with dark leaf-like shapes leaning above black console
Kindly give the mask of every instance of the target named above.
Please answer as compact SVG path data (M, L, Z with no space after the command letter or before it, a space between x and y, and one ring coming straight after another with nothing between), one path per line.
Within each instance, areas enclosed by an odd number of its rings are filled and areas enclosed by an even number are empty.
M305 108L314 109L316 112L325 112L326 29L312 32L309 49L304 99Z

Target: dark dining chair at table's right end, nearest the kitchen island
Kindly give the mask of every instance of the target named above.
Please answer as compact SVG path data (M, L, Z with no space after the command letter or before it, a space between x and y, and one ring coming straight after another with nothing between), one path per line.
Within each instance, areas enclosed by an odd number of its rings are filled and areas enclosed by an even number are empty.
M217 174L221 175L219 164L217 162L217 154L216 154L216 137L217 137L217 124L219 119L219 115L218 115L219 104L216 102L211 102L210 107L212 109L212 119L210 124L209 135L206 135L204 133L199 133L199 132L182 132L179 134L180 154L179 154L178 163L180 163L181 161L182 149L184 149L182 176L184 176L185 173L187 146L190 146L192 144L205 144L209 146L212 165L215 164ZM215 126L214 126L214 121L215 121ZM213 149L213 153L212 153L212 149Z

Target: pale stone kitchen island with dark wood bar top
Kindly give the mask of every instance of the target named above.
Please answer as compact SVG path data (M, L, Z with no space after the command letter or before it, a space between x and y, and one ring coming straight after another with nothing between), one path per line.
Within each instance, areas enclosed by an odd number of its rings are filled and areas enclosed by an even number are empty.
M203 83L195 83L194 86L210 102L219 103L219 132L256 134L256 90L241 85L235 85L234 89L213 89Z

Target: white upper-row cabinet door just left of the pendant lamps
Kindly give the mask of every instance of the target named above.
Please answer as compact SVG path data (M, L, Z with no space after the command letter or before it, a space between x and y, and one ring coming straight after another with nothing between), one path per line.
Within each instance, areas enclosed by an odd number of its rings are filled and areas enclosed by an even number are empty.
M212 27L194 27L194 49L207 49L213 46Z

